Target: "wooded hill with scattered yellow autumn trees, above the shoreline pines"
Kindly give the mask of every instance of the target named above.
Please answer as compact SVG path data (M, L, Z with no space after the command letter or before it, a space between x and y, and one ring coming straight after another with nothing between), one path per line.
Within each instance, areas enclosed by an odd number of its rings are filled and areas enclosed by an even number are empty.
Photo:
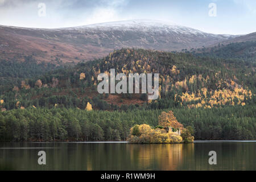
M126 75L159 73L160 99L146 105L145 94L98 94L98 74L109 74L112 68L116 73ZM77 64L73 69L57 69L43 76L24 79L20 85L13 85L13 89L2 94L1 99L4 101L2 107L7 110L33 105L85 109L87 102L94 109L116 110L128 101L138 105L144 103L152 109L181 106L212 108L249 104L254 100L255 80L254 63L251 61L121 49L104 59ZM113 103L113 98L118 103Z

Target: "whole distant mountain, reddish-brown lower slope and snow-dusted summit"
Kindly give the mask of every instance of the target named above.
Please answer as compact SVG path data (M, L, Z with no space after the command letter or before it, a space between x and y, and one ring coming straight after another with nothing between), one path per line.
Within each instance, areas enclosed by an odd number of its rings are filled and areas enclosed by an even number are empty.
M39 29L0 26L0 59L75 63L123 47L174 51L209 46L236 36L208 34L155 20L129 20L82 27Z

